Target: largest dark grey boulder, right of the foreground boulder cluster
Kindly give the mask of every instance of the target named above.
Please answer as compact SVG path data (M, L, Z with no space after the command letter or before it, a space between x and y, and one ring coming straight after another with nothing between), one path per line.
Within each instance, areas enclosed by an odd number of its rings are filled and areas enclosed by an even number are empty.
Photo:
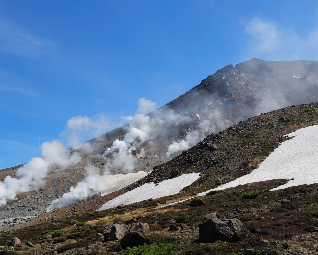
M211 243L216 240L231 241L236 231L242 229L243 225L238 219L221 221L216 218L198 225L199 239L204 243Z

